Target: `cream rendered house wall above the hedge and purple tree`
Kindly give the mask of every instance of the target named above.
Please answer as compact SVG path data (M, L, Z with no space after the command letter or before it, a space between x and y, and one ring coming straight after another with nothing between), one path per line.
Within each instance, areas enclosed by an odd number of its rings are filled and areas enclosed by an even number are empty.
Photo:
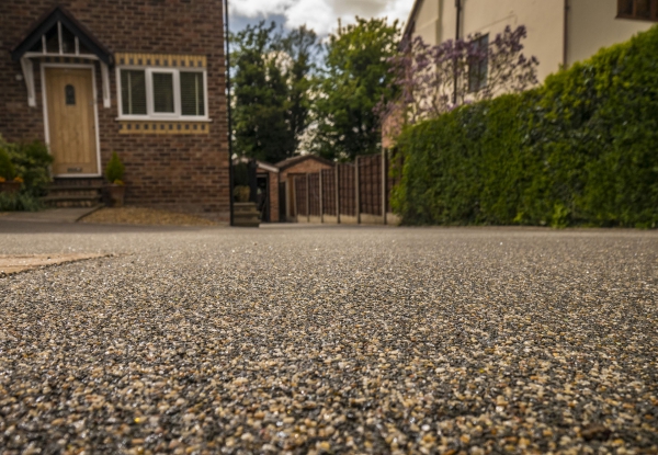
M648 30L653 22L616 19L617 0L568 0L565 24L565 0L461 0L461 37L487 34L492 41L507 25L525 25L527 38L524 54L540 60L540 82L565 62L591 57L601 47L624 42ZM455 38L455 0L419 0L411 20L415 35L435 45ZM565 25L567 46L565 61Z

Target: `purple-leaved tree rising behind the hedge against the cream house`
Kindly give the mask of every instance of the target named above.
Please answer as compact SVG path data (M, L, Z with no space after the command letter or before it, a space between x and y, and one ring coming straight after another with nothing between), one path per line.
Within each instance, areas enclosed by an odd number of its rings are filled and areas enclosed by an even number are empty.
M507 26L494 41L475 35L436 46L420 36L404 43L389 62L399 90L395 100L383 100L376 111L384 117L401 116L406 122L436 117L465 103L489 100L501 93L517 93L537 83L535 57L526 58L521 41L525 26ZM399 132L400 122L396 121Z

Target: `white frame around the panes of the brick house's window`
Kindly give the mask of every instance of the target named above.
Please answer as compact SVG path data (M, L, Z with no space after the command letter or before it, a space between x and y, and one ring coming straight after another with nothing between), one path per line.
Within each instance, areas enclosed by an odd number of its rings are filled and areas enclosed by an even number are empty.
M124 115L123 99L121 96L121 71L135 70L145 71L146 78L146 115ZM182 115L181 114L181 82L180 73L201 72L203 75L203 100L204 115ZM155 112L154 105L154 72L168 72L173 75L173 113ZM149 66L124 65L116 67L116 95L118 117L117 121L167 121L167 122L211 122L208 116L208 83L207 71L205 68L161 68Z

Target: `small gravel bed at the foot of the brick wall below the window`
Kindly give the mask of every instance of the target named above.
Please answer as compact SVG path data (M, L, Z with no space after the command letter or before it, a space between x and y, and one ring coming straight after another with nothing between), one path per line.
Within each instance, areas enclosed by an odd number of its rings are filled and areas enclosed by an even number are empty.
M98 223L105 225L149 225L149 226L213 226L209 219L175 212L159 211L147 207L101 208L87 215L80 223Z

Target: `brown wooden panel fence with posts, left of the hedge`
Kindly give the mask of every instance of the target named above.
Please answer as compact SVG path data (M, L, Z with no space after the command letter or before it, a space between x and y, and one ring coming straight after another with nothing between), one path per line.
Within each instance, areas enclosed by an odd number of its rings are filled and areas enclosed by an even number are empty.
M388 155L358 157L353 163L294 177L298 223L398 224L390 209L397 179Z

